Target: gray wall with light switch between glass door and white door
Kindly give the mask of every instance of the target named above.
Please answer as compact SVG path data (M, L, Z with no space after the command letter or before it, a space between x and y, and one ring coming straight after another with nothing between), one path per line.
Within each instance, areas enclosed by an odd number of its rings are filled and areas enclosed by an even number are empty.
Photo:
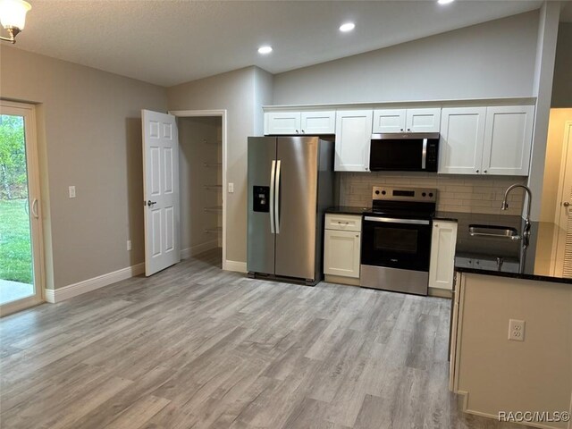
M5 45L0 57L2 97L38 104L46 286L143 262L140 110L166 111L165 89Z

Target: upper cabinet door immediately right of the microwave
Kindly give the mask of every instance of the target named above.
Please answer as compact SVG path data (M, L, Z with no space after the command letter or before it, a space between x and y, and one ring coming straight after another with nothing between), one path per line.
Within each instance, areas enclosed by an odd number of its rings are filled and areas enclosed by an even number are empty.
M486 107L442 109L439 172L481 172L485 115Z

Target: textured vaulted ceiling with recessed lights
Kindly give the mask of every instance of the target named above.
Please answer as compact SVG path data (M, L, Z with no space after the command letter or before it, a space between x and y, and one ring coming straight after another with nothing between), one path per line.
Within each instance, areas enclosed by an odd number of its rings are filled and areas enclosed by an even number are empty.
M272 73L537 9L540 1L29 0L17 48L163 86ZM342 34L338 27L355 21ZM272 45L271 55L257 47Z

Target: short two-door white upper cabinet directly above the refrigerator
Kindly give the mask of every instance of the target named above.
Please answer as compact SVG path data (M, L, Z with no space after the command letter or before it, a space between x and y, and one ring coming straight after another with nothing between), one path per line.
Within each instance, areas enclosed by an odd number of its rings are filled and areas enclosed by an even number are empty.
M333 134L335 111L267 112L265 134Z

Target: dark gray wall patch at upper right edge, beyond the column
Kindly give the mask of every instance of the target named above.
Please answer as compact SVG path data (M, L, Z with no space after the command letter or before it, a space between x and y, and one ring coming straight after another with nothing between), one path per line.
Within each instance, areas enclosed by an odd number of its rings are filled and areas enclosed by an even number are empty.
M551 105L572 107L572 22L559 25Z

